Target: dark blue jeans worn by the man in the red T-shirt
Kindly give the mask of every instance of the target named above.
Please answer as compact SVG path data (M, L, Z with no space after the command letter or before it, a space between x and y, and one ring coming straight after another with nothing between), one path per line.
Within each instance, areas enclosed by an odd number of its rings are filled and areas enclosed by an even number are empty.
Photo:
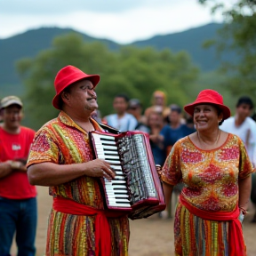
M16 232L18 256L35 256L36 197L12 200L0 197L0 256L9 256Z

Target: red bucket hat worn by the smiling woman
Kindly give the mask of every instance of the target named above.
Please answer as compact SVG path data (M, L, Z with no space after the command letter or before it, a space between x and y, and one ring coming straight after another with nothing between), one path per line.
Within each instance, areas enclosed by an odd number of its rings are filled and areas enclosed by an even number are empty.
M199 92L196 100L184 107L184 110L191 116L194 114L194 108L199 104L213 104L222 110L223 119L227 119L230 116L230 109L223 104L223 98L219 92L211 89L203 90Z

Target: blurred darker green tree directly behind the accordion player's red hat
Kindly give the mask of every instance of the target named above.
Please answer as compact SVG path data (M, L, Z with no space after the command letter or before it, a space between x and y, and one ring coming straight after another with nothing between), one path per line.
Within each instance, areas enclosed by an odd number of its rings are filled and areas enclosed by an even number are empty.
M74 33L56 37L52 48L40 52L35 59L19 60L16 66L26 86L30 126L37 129L58 115L59 111L52 107L52 98L54 77L60 68L74 65L88 74L104 73L104 61L111 65L111 57L104 44L84 44L82 36Z

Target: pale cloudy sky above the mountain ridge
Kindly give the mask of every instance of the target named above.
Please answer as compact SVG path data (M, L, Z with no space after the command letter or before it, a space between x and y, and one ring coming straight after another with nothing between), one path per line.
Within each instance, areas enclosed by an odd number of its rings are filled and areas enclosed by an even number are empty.
M197 0L1 0L0 38L31 28L74 28L120 44L221 22Z

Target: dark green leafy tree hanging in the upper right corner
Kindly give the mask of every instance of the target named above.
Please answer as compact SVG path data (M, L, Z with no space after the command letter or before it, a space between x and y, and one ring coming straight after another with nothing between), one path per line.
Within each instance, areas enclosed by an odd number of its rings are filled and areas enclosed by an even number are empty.
M224 63L222 71L228 74L228 89L234 95L241 94L256 97L256 1L236 0L230 6L228 1L199 0L210 4L212 12L222 12L225 26L220 30L220 52L231 49L236 51L236 63ZM216 42L215 42L216 44Z

